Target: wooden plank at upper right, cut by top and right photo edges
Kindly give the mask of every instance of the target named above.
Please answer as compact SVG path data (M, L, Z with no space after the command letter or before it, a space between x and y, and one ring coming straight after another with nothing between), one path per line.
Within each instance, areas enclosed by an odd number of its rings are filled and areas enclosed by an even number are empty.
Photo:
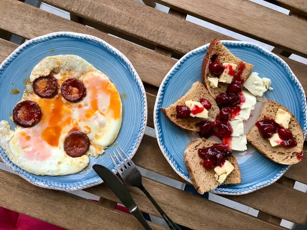
M248 0L157 0L157 2L307 57L306 22L298 18Z

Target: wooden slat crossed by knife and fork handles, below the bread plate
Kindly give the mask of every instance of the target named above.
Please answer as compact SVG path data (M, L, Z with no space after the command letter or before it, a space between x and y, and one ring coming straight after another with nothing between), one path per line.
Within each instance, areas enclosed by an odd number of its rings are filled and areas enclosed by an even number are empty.
M267 225L252 216L146 177L143 177L143 184L174 222L192 229L229 229L229 226L234 226L235 229L279 229L279 226ZM105 185L92 187L86 191L120 202ZM129 187L129 191L141 210L159 216L157 210L139 189Z

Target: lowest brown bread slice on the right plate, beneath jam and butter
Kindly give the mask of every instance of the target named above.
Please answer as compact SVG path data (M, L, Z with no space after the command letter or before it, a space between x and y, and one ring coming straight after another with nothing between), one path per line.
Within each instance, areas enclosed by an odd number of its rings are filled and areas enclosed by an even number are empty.
M221 183L214 178L214 169L206 170L201 164L201 158L198 155L199 148L210 147L215 142L205 139L198 139L190 142L184 151L184 163L189 171L194 188L200 194L215 189ZM224 185L234 185L241 182L241 173L239 165L234 156L228 157L229 162L234 166L234 170L227 176Z

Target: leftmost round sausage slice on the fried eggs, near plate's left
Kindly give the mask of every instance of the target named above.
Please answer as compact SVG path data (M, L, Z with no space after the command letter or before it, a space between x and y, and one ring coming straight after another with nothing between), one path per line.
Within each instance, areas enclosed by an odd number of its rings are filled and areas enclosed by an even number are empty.
M41 119L41 110L34 101L21 101L13 109L14 122L24 128L36 125Z

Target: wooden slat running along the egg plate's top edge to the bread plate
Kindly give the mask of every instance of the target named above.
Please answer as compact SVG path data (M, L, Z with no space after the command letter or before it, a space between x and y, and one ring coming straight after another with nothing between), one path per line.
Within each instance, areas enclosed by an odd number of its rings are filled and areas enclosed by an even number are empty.
M114 45L126 55L133 63L142 81L155 86L160 86L163 77L176 62L136 44L85 27L28 4L15 0L0 0L0 6L0 29L27 39L57 31L71 31L97 36Z

